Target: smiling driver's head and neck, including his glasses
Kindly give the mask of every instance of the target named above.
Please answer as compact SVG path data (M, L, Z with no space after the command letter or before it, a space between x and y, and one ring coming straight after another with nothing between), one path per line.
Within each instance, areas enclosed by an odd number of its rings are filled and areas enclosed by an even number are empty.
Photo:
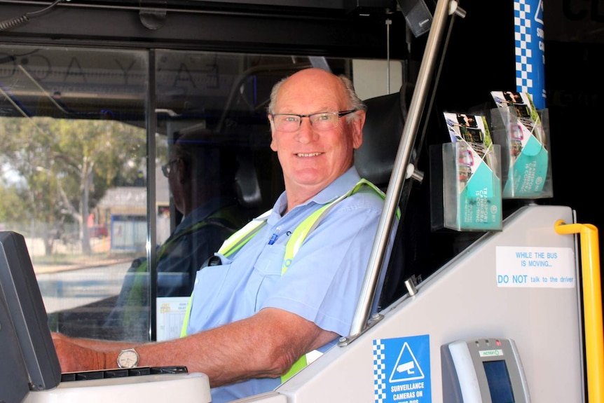
M352 167L354 150L363 143L365 112L349 90L350 83L321 69L301 71L275 86L268 107L271 148L283 168L288 210Z

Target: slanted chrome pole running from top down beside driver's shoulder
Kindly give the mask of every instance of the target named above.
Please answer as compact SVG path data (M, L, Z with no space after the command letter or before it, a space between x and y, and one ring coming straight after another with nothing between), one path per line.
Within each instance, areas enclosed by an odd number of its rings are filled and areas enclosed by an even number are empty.
M432 26L430 27L422 64L420 65L420 71L418 73L416 89L413 91L413 97L411 98L409 114L401 135L397 158L394 160L392 175L390 176L390 183L387 188L384 210L380 217L378 230L376 231L376 239L373 241L373 250L369 257L359 302L357 303L357 309L355 310L355 316L352 318L350 335L348 338L341 340L341 343L356 339L366 328L367 322L369 321L369 314L371 313L371 306L376 295L376 287L380 277L380 269L383 266L387 244L390 240L392 224L394 223L394 217L396 217L403 183L406 177L410 176L407 175L407 166L409 165L411 151L413 150L413 144L416 140L416 132L418 131L427 91L430 87L430 80L434 71L434 65L436 64L436 57L442 33L444 32L446 19L450 13L450 3L451 0L439 0L434 11ZM410 172L410 174L411 173L412 172Z

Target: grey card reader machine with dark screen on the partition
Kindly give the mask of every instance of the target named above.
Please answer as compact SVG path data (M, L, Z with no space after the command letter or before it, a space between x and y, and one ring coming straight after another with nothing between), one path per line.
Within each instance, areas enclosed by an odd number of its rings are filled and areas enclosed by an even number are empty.
M530 403L512 339L480 338L441 346L443 403Z

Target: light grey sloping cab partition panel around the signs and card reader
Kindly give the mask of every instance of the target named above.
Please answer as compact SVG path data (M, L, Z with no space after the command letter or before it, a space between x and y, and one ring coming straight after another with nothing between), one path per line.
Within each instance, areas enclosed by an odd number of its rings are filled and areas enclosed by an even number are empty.
M374 339L430 336L432 402L442 402L440 346L496 335L514 339L533 402L582 402L582 337L577 288L497 287L497 247L553 247L575 251L573 235L558 235L568 207L523 207L418 285L385 317L345 347L335 347L277 388L289 402L375 402ZM563 385L563 387L561 387ZM419 399L424 403L425 399Z

